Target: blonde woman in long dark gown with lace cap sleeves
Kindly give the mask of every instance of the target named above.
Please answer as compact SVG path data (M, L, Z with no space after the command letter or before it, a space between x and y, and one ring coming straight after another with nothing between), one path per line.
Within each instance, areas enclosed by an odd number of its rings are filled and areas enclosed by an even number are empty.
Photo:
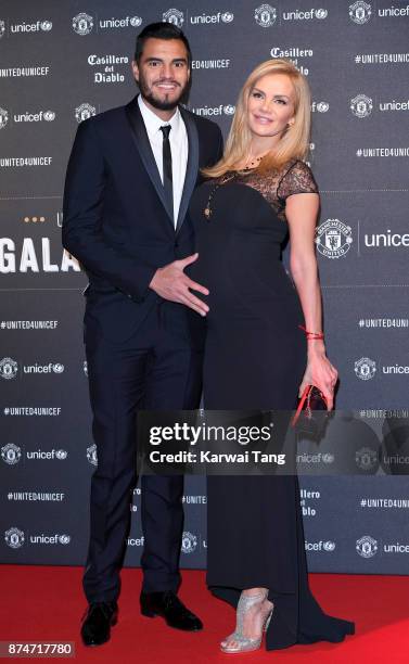
M199 259L190 274L209 290L206 409L291 410L310 383L332 408L337 373L321 334L314 243L319 195L303 161L309 127L304 76L285 60L260 64L241 91L222 159L192 197ZM287 233L294 283L281 261ZM255 650L264 629L268 650L354 634L309 590L297 477L210 476L207 486L207 584L237 606L221 650Z

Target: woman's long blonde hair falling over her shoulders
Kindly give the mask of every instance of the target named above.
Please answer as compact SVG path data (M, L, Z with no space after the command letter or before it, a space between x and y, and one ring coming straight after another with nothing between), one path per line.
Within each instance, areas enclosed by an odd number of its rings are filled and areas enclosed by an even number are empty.
M248 76L238 99L234 118L226 141L221 159L209 168L203 168L206 177L217 178L248 157L252 135L247 124L247 103L253 88L263 76L285 74L292 80L295 91L294 124L284 129L280 142L261 159L259 173L279 168L292 158L305 159L309 148L311 101L307 79L296 66L284 58L261 62Z

